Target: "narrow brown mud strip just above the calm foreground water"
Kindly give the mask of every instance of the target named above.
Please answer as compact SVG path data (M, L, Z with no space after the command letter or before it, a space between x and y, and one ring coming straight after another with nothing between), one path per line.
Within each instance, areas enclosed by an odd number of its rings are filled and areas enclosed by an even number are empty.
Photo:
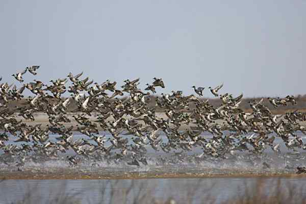
M30 170L23 172L2 171L0 179L4 180L105 180L105 179L204 179L204 178L228 178L228 177L264 177L264 178L299 178L306 177L306 174L296 174L293 172L261 172L252 173L249 171L239 172L229 170L226 173L165 173L165 172L129 172L129 174L108 175L95 172L54 172L44 171L33 173Z

